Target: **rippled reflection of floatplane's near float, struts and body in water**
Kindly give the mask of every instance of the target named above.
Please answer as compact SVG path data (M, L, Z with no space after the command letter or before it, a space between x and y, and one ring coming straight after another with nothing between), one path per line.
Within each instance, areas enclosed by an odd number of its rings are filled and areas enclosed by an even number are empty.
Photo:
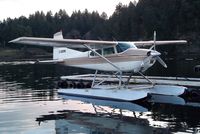
M130 102L116 103L115 101L85 99L78 97L60 96L64 99L80 99L93 105L94 113L63 110L59 114L43 115L36 120L55 120L56 133L83 133L83 134L117 134L117 133L154 133L156 131L165 132L167 129L153 128L149 126L147 119L140 118L139 112L130 110L147 109ZM69 98L68 98L69 97ZM102 104L102 105L100 105ZM120 109L122 108L123 109ZM125 113L130 114L127 116ZM165 131L164 131L165 130Z

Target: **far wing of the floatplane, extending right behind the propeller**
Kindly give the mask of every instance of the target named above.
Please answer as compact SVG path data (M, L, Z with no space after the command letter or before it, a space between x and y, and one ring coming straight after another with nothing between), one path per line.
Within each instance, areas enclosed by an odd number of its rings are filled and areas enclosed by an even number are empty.
M137 47L152 46L154 41L135 41L132 42ZM186 44L186 40L169 40L169 41L155 41L156 45L168 45L168 44Z

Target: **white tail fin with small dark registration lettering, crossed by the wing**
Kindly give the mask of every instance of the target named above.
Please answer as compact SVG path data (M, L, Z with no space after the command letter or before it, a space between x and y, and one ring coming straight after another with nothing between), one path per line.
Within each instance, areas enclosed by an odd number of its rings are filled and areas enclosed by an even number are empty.
M53 38L62 40L63 39L62 31L55 33ZM54 47L53 48L53 59L54 60L63 60L63 59L68 59L68 58L74 58L82 53L83 52L69 49L66 47Z

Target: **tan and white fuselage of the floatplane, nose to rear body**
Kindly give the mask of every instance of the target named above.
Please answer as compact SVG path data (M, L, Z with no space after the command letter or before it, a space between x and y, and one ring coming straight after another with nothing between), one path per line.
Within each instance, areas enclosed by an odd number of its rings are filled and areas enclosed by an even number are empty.
M149 53L156 53L156 51L138 49L135 46L127 48L122 52L119 52L115 46L99 49L96 52L104 56L123 72L143 72L155 63L155 59ZM158 52L156 54L160 55ZM64 65L101 71L117 71L114 66L92 51L83 52L75 57L67 58L64 60Z

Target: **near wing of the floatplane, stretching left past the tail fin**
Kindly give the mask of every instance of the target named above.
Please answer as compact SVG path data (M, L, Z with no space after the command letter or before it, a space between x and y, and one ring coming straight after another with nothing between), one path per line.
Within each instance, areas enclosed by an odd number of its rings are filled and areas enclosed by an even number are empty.
M79 40L79 39L57 39L57 38L35 38L35 37L20 37L10 41L9 43L51 46L51 47L68 47L72 49L85 48L85 44L91 48L102 48L114 46L117 42L114 41L99 41L99 40Z

